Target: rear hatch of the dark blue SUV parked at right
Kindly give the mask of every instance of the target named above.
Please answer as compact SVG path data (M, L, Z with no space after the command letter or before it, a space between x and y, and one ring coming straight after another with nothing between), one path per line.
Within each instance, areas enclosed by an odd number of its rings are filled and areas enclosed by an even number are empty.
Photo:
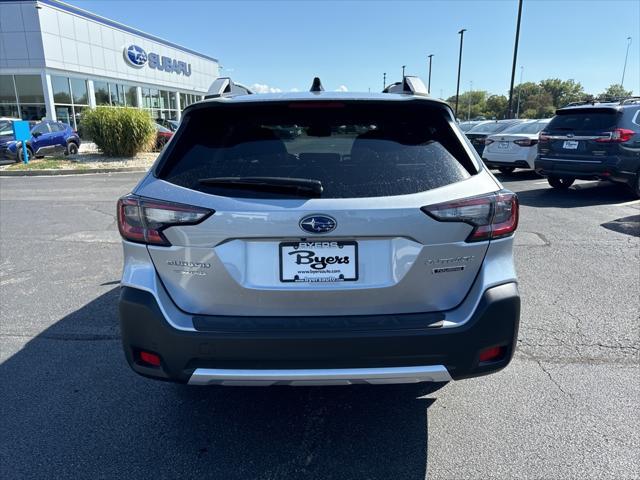
M615 107L558 110L540 134L539 159L553 161L558 169L598 170L616 153ZM553 168L552 168L553 169Z

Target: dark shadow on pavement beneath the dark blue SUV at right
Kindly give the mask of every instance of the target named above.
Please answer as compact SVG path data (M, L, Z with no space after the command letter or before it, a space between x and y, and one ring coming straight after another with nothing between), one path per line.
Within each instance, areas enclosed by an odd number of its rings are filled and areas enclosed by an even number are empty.
M610 182L581 182L568 190L548 185L518 192L521 205L538 208L576 208L592 205L611 205L634 200L624 185Z

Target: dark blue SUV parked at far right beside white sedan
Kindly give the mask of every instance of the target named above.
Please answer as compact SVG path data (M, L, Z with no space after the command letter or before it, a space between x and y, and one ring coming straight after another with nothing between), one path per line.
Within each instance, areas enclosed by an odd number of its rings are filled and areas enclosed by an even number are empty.
M610 180L640 197L640 97L561 108L539 140L535 169L552 187Z

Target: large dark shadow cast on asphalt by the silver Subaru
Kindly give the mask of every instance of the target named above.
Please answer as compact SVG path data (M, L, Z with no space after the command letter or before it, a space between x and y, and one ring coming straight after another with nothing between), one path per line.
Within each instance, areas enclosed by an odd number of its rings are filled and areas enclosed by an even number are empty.
M4 478L423 479L443 384L191 387L126 365L114 288L0 364ZM9 352L11 355L8 355Z

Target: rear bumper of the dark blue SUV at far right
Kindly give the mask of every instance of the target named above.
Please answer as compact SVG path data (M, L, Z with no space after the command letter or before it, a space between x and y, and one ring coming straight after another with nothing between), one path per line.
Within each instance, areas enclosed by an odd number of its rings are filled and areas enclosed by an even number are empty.
M570 158L551 159L538 157L535 161L535 171L548 176L571 177L580 180L611 180L633 184L635 172L627 172L618 167L617 158L603 158L602 161L581 161Z

